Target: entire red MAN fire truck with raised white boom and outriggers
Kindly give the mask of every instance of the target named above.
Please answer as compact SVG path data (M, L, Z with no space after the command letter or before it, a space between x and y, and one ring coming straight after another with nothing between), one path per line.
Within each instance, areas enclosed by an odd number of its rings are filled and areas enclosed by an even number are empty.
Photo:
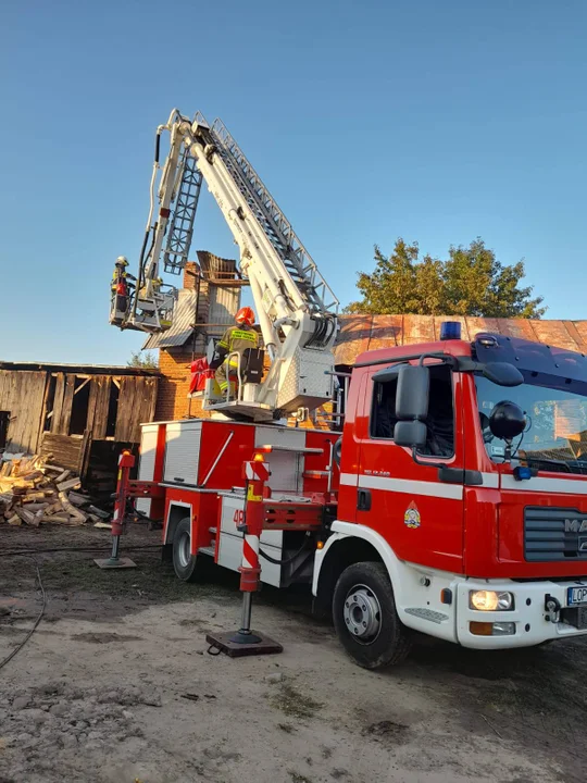
M222 181L213 194L235 226L273 369L253 384L239 366L236 399L218 399L209 378L217 419L143 425L137 480L122 458L114 557L137 498L163 519L179 579L208 558L241 571L249 597L259 580L307 583L370 669L401 660L413 632L484 649L586 634L587 358L501 335L464 341L447 322L437 343L358 358L342 378L341 434L283 426L284 413L328 398L336 314L310 265L303 281L294 271L288 248L307 251L232 137L201 117L174 120L172 138L177 127L209 183ZM249 620L250 600L245 636Z

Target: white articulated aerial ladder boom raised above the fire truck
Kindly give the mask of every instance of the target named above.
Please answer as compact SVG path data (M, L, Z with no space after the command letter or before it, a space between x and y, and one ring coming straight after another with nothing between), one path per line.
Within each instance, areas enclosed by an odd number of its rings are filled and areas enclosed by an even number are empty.
M161 167L164 132L170 151ZM235 399L224 398L210 378L203 408L254 421L312 410L332 398L339 302L220 120L210 125L199 112L190 120L174 109L158 127L139 272L122 306L113 296L111 323L151 334L171 325L177 291L163 285L161 266L179 274L188 260L203 181L239 248L240 272L251 287L268 359L257 384L247 383L246 368L239 365Z

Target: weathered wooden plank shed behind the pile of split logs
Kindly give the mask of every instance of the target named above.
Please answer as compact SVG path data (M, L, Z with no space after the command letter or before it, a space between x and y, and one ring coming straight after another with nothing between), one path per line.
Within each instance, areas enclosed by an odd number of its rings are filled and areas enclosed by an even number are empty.
M92 453L108 464L139 443L158 382L158 370L0 362L0 450L50 452L85 475Z

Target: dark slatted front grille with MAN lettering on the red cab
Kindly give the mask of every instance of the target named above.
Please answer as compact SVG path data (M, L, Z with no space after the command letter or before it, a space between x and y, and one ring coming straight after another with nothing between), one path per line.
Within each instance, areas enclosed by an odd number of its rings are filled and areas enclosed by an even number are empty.
M524 557L530 562L587 560L587 514L577 509L526 507Z

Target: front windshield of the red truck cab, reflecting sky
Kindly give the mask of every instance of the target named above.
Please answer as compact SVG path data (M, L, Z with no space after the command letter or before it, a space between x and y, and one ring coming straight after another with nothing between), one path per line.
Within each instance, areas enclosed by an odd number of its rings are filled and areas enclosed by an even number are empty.
M477 401L484 440L491 459L501 461L504 443L491 435L489 417L498 402L510 400L522 408L528 424L514 439L513 455L540 470L587 473L587 397L571 390L530 383L503 388L476 376Z

